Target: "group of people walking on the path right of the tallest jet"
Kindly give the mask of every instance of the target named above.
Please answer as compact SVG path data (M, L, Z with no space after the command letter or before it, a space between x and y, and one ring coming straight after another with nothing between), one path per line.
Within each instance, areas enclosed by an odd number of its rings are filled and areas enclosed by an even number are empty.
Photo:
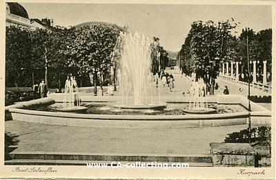
M161 81L159 82L159 79ZM162 70L161 72L157 72L155 74L155 85L156 87L163 85L165 87L166 85L170 88L170 92L172 92L172 88L175 88L175 79L172 74L168 74L168 72L164 72Z

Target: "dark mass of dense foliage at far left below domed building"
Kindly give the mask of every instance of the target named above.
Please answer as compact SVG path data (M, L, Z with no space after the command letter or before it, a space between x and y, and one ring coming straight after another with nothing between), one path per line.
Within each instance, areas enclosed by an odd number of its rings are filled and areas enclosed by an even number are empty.
M59 28L6 27L6 87L30 87L45 79L49 87L61 88L61 75L66 74L62 52L66 35Z

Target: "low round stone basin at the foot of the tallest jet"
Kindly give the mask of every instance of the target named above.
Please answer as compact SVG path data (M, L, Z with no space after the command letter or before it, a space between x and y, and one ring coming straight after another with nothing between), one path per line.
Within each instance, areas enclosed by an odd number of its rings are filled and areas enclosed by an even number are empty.
M113 108L131 109L131 110L164 110L167 107L166 103L153 103L153 104L141 104L141 105L127 105L112 103Z

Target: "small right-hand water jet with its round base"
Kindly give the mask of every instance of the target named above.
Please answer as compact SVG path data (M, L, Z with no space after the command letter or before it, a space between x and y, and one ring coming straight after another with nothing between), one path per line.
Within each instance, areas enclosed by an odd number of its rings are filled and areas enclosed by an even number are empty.
M213 108L208 108L208 102L204 101L206 97L206 83L202 78L199 81L193 79L190 87L190 106L189 109L183 109L188 114L211 114L216 112Z

